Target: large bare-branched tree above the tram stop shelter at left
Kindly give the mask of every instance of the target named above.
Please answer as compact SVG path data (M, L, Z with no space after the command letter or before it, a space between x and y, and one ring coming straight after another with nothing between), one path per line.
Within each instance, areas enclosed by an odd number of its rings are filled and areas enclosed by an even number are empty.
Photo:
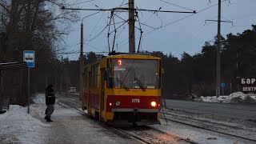
M62 0L0 0L0 62L22 61L23 50L35 50L38 64L32 77L37 80L41 67L57 61L54 52L60 50L62 36L68 34L70 22L78 20L77 13L61 11L62 5ZM2 72L1 76L1 95L8 91L14 102L26 99L23 70Z

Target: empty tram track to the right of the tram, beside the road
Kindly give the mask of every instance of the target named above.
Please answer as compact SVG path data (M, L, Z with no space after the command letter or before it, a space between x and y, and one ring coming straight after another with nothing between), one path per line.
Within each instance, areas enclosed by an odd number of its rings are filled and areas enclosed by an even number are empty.
M238 127L238 126L227 126L225 124L222 123L217 123L217 122L209 122L206 120L200 120L197 118L193 118L190 116L183 116L183 115L179 115L179 114L170 114L170 113L164 113L165 116L162 116L163 113L161 114L160 118L162 118L163 120L166 121L170 121L170 122L176 122L182 125L186 125L186 126L192 126L198 129L202 129L202 130L209 130L209 131L213 131L219 134L225 134L228 136L232 136L234 138L242 138L245 140L248 140L250 142L256 142L255 139L255 135L256 135L256 131L255 130L248 130L248 129L243 129L242 127ZM241 134L248 134L248 131L250 131L250 135L245 137L242 136Z

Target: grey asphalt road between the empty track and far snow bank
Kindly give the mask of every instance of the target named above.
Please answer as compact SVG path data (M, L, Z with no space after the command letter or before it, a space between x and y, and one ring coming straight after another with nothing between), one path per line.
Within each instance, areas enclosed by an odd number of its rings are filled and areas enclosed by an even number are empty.
M227 104L166 99L166 107L194 114L214 114L226 118L256 120L256 104Z

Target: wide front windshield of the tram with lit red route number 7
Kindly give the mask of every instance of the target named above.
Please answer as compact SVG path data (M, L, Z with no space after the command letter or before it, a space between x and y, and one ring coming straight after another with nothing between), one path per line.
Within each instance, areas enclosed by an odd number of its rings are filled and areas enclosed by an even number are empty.
M158 60L113 59L113 63L115 88L157 88Z

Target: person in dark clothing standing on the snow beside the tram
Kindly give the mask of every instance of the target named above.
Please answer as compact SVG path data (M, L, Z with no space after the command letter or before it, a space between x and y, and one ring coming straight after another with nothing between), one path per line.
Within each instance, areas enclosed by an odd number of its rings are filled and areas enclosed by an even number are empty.
M55 104L55 94L54 94L54 89L53 85L50 84L49 86L46 87L46 122L53 122L50 119L51 114L54 113L54 104Z

